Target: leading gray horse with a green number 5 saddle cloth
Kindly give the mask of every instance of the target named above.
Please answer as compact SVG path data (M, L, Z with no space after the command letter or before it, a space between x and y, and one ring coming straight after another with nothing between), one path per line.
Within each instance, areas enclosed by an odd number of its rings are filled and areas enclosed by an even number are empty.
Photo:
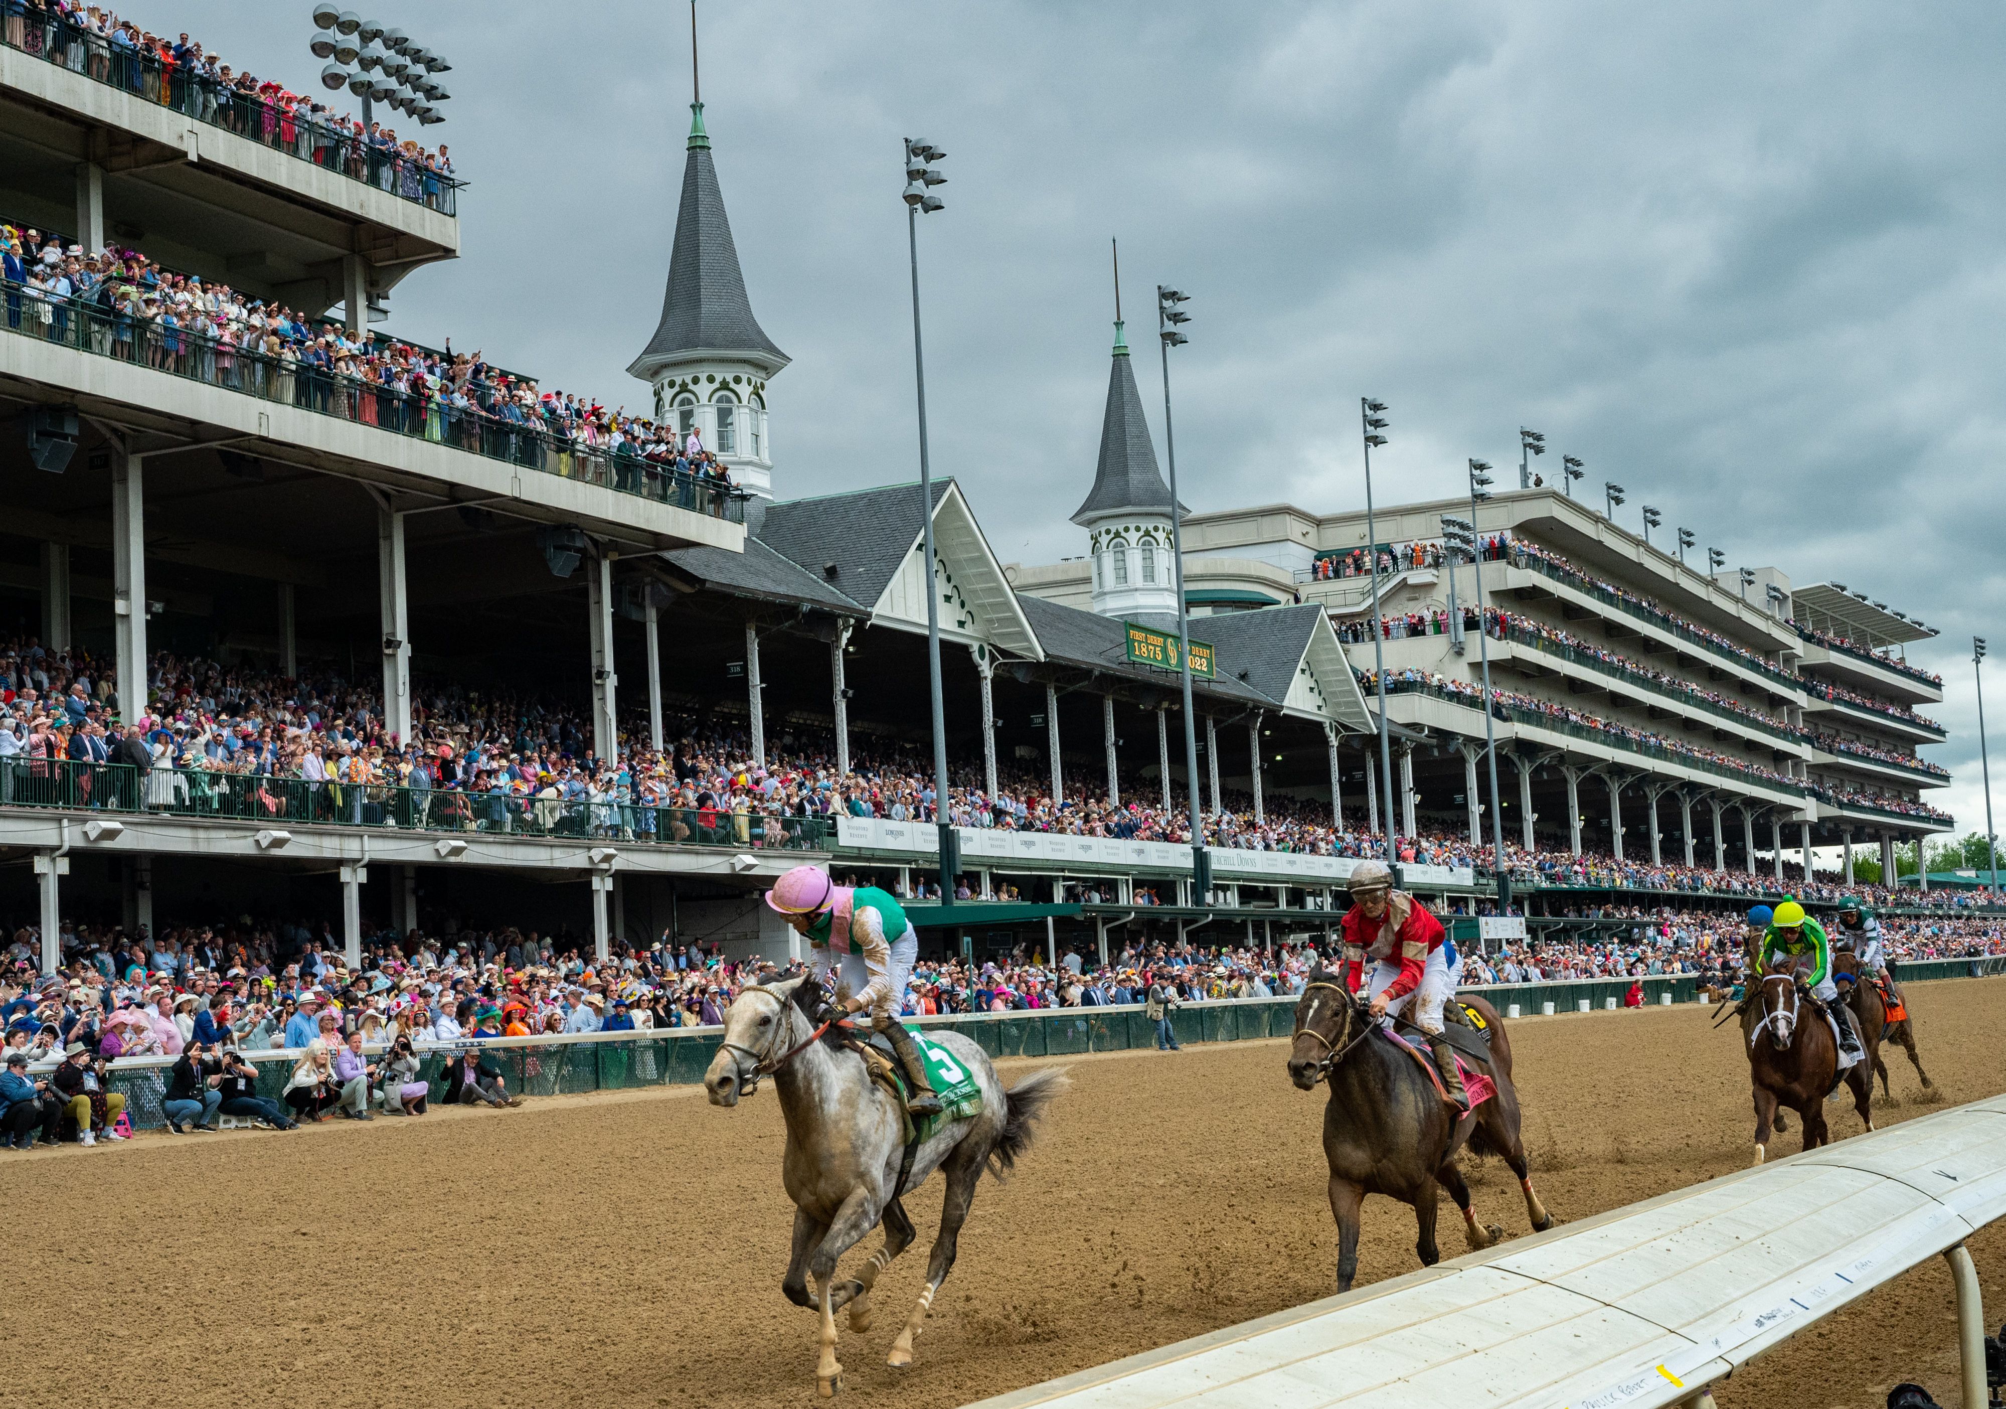
M851 1331L871 1329L871 1289L895 1256L913 1244L913 1220L899 1194L917 1188L933 1170L947 1180L941 1232L927 1262L927 1287L913 1317L899 1331L887 1365L913 1363L913 1337L927 1307L955 1264L955 1240L975 1202L983 1168L997 1178L1031 1146L1031 1126L1053 1096L1069 1084L1063 1068L1033 1072L1009 1092L989 1056L959 1032L933 1032L981 1086L983 1108L965 1120L943 1122L913 1152L913 1168L899 1186L905 1134L899 1102L865 1072L863 1058L822 1038L818 1024L828 1010L808 977L748 988L724 1014L724 1046L704 1072L712 1106L736 1106L762 1076L772 1076L786 1118L786 1154L780 1180L794 1200L794 1252L780 1291L796 1307L814 1307L822 1319L822 1353L814 1383L824 1399L843 1387L837 1363L837 1309L851 1309ZM871 1254L857 1277L837 1285L837 1258L885 1224L885 1246ZM814 1293L810 1295L810 1279Z

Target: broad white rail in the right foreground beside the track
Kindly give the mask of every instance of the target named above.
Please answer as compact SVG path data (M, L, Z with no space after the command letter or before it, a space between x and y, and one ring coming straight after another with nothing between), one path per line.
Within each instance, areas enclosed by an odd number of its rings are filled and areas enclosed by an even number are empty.
M1958 1285L1960 1403L1984 1409L1984 1315L1962 1244L2002 1214L1994 1096L979 1409L1711 1405L1713 1381L1938 1254Z

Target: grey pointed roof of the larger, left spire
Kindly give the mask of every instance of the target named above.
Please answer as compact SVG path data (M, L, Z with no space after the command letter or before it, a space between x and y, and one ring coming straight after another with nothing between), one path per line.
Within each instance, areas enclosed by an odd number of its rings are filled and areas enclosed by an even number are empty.
M788 363L752 317L732 223L724 215L724 193L710 163L710 140L698 128L682 167L682 207L676 211L676 245L668 257L668 291L662 295L662 323L634 365L648 377L668 357L692 351L746 353L766 363L768 373Z

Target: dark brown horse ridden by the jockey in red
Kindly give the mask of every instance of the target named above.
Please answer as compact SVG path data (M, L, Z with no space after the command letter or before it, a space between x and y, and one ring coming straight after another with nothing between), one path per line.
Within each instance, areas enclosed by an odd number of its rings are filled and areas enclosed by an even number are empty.
M1456 1116L1420 1064L1384 1038L1372 1014L1336 973L1318 969L1296 1002L1296 1040L1288 1048L1288 1078L1302 1090L1330 1086L1324 1106L1324 1158L1330 1164L1330 1212L1338 1220L1338 1291L1358 1275L1358 1208L1366 1194L1386 1194L1414 1206L1422 1266L1442 1260L1434 1244L1434 1206L1442 1188L1462 1210L1462 1236L1486 1248L1504 1236L1478 1226L1470 1186L1456 1168L1456 1150L1500 1154L1525 1190L1533 1232L1553 1226L1527 1172L1519 1138L1519 1092L1511 1084L1511 1040L1504 1020L1480 998L1468 1000L1490 1030L1490 1080L1496 1094Z

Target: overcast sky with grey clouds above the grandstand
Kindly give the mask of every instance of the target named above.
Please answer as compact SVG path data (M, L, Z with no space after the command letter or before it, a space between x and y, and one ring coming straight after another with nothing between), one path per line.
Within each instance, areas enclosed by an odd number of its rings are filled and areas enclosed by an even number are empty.
M305 0L124 0L313 82ZM297 16L293 16L297 10ZM688 130L670 2L375 12L447 54L463 257L391 327L642 407ZM704 112L772 387L782 498L917 474L903 134L947 149L921 229L937 474L999 554L1081 552L1121 239L1176 353L1184 500L1452 492L1517 428L1731 564L1840 578L1942 628L1940 793L1984 827L1972 632L2006 658L1994 464L2006 12L1978 0L893 4L704 0ZM217 44L215 40L223 40ZM1137 365L1159 405L1153 355ZM1151 413L1161 454L1161 419ZM1557 454L1547 458L1547 466ZM1390 484L1388 484L1390 482ZM1513 480L1515 482L1515 480ZM2006 717L2006 676L1996 711Z

